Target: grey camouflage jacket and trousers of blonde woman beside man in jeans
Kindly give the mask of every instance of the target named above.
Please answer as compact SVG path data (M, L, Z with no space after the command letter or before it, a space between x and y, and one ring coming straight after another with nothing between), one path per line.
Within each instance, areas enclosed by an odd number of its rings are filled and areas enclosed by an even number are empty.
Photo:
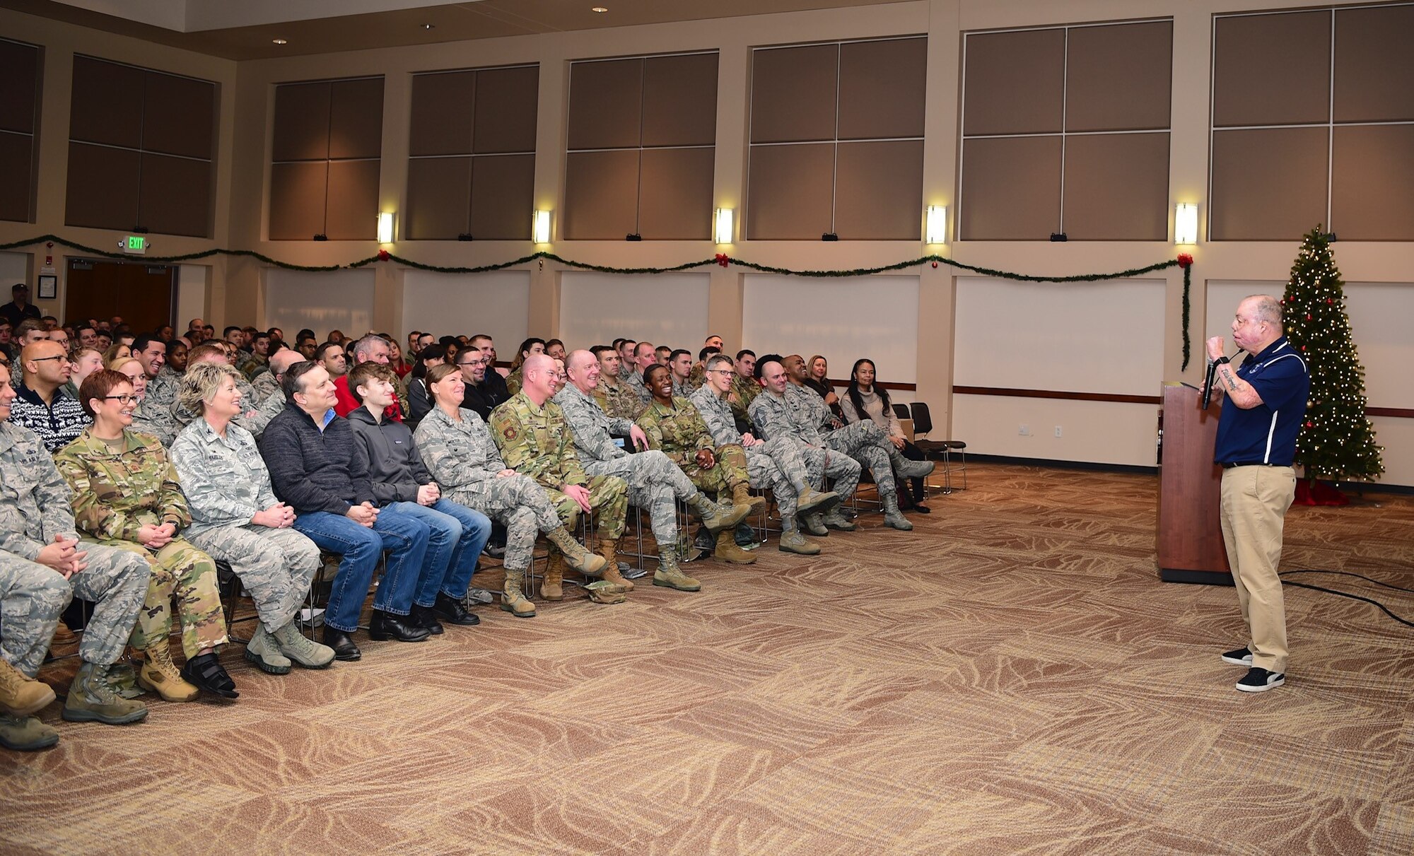
M239 425L221 436L206 420L194 420L171 456L191 507L185 537L230 565L267 631L288 624L320 569L320 548L293 528L250 523L277 501L255 438Z

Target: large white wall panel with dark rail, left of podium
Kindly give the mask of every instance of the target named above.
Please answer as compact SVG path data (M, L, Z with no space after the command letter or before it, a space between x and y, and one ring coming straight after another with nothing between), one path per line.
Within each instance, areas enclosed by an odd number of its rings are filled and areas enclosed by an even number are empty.
M1164 280L959 277L953 383L1158 396L1164 301ZM957 394L952 434L984 455L1154 466L1157 414L1154 404Z

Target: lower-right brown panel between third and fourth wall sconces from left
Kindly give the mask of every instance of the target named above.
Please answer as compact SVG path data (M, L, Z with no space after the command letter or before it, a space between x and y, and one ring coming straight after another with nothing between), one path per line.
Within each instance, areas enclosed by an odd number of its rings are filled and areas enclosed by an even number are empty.
M834 232L840 240L919 240L923 141L840 143Z

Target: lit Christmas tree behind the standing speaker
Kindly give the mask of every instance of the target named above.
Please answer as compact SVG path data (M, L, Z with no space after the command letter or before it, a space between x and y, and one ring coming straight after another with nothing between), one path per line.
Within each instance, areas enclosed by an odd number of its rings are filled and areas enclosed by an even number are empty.
M1350 340L1345 283L1331 236L1316 226L1301 242L1281 299L1291 342L1311 373L1311 398L1297 435L1307 479L1377 479L1384 472L1374 428L1365 415L1365 367Z

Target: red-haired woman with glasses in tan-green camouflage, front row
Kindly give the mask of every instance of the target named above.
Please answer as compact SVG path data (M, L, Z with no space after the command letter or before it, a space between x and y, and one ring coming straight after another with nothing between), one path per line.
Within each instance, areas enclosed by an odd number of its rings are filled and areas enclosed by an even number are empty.
M129 640L146 654L139 684L167 701L191 701L198 689L236 698L236 685L216 657L218 646L229 641L216 564L177 535L191 524L187 497L157 438L129 428L137 405L132 381L117 371L95 371L79 394L93 424L54 463L74 489L74 520L83 540L141 554L153 565ZM174 595L187 654L181 672L167 641Z

